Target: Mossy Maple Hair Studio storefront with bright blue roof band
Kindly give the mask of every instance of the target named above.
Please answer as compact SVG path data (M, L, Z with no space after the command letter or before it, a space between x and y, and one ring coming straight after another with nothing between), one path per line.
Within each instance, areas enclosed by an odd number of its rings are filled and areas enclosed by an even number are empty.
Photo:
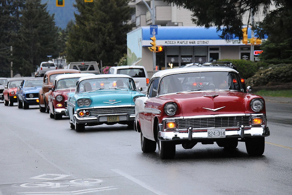
M163 51L156 53L156 66L153 66L153 52L148 49L153 37L150 26L139 27L127 34L127 64L144 66L152 75L153 70L179 68L192 62L255 57L251 55L250 44L243 44L238 37L220 39L219 35L221 32L216 32L214 27L158 26L156 45L162 45ZM260 50L260 45L255 45L254 50Z

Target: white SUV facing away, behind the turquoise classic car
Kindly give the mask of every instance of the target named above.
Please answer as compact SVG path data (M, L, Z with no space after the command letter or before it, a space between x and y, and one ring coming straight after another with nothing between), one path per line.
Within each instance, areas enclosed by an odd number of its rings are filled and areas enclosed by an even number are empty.
M126 74L131 76L135 81L137 89L146 94L149 77L144 66L113 66L109 68L108 74Z

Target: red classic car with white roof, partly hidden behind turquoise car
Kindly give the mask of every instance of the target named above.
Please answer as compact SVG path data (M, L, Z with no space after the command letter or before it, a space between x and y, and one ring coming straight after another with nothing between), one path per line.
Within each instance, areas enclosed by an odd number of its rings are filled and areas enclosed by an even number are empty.
M74 92L78 79L82 76L90 76L90 73L74 73L58 75L54 81L54 87L48 93L48 106L50 118L56 120L66 116L67 94Z

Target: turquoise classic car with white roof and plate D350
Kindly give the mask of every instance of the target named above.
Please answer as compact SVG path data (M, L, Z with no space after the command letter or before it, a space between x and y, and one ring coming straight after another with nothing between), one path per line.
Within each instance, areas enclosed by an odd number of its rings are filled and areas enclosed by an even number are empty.
M83 131L85 126L116 123L134 127L135 100L145 96L136 91L132 77L101 74L81 77L75 93L68 93L70 127Z

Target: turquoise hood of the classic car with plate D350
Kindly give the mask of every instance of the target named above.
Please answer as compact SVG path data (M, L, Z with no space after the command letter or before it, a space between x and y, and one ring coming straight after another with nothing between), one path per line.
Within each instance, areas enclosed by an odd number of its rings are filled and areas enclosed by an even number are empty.
M75 94L76 99L90 98L92 106L119 106L119 105L134 105L133 98L135 96L144 96L138 91L132 90L107 90L94 91L81 94Z

